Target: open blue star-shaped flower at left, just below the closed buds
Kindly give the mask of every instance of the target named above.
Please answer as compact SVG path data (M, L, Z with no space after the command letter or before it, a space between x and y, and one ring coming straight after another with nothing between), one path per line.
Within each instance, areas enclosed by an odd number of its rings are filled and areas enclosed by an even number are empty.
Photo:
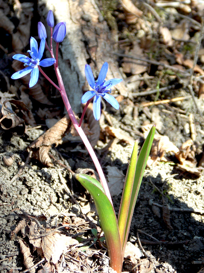
M24 66L28 66L18 72L15 72L12 76L11 79L19 79L28 73L31 72L31 79L29 82L29 87L33 87L38 80L39 76L39 69L37 66L51 66L53 65L56 60L54 58L48 58L40 61L40 59L43 56L43 52L45 49L45 38L42 38L40 41L40 48L38 51L37 47L37 41L33 37L31 37L31 50L28 50L28 52L31 55L31 58L23 55L23 54L16 54L13 56L13 59L18 60L20 62L24 62Z

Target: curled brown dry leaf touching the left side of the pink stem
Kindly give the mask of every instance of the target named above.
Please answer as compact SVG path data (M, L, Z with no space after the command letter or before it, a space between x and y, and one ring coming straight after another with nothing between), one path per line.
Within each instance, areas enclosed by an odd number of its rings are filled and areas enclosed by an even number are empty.
M28 146L28 151L33 151L33 156L40 160L48 167L52 167L53 163L48 155L51 146L56 147L62 142L62 137L70 128L70 118L68 115L64 116L54 126L48 129L42 136L34 140Z

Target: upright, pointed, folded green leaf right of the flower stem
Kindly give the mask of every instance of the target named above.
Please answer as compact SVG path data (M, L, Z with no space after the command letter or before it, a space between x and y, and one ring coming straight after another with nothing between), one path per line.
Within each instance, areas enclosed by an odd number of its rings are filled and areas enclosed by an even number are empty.
M122 245L123 254L124 254L126 243L128 240L128 233L130 230L132 215L133 215L134 207L138 197L140 185L142 182L142 177L143 177L144 170L147 164L147 159L149 157L151 146L154 140L154 133L155 133L155 125L151 128L146 140L144 141L144 144L138 156L137 163L135 162L135 157L136 157L135 147L131 155L130 167L128 167L128 172L127 172L127 176L125 180L125 186L123 190L123 195L122 195L122 200L121 200L121 205L120 205L120 210L118 215L118 228L119 228L119 232L121 236L121 245ZM132 159L132 157L134 158ZM135 168L135 165L136 165L136 168ZM134 169L135 169L135 174L133 174ZM127 210L128 206L129 206L129 210ZM125 224L125 219L126 219L126 224Z

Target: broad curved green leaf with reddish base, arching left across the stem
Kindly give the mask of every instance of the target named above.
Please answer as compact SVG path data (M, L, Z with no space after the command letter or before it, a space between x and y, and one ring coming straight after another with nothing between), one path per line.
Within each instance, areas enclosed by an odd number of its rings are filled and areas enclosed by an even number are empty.
M75 174L75 178L89 191L96 204L101 227L105 235L105 241L110 258L110 266L121 273L122 270L122 248L118 223L115 211L108 197L105 195L101 184L95 178L87 174Z

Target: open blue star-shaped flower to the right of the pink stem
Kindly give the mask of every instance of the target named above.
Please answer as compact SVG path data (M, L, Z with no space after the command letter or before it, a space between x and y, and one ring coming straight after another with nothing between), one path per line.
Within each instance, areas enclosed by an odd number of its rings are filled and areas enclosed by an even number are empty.
M119 109L119 103L117 102L117 100L110 94L107 94L107 92L110 91L111 93L110 87L120 83L122 79L110 79L108 81L105 81L107 71L108 71L108 63L105 62L102 65L98 79L95 81L91 67L89 65L85 66L86 79L89 85L91 86L91 88L93 88L94 90L87 91L82 96L82 103L86 103L89 99L91 99L94 96L93 115L96 120L99 120L101 116L101 96L108 103L110 103L115 109Z

